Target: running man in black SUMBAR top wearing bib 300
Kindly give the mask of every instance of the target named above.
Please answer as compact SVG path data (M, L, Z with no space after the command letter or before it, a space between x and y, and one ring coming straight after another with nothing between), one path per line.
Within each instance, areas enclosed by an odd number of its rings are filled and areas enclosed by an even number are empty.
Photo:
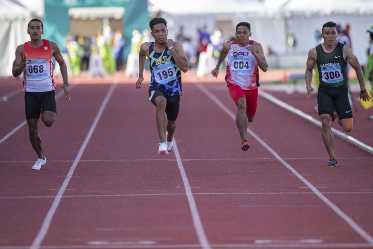
M314 89L311 87L312 72L317 64L320 85L317 94L318 112L322 123L322 138L328 151L330 161L327 167L338 166L335 159L332 133L332 118L338 118L338 124L347 132L353 129L352 110L346 84L347 62L355 70L360 84L360 99L369 101L364 83L362 68L352 49L336 41L337 24L327 22L322 26L321 37L324 42L308 52L306 68L306 88L309 100ZM336 113L334 112L336 111Z

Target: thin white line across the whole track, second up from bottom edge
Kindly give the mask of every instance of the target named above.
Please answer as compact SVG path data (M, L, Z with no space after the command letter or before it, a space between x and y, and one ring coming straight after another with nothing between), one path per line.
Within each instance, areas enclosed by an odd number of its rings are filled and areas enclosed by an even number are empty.
M211 192L211 193L194 193L193 195L309 195L315 194L313 192ZM373 194L373 192L322 192L327 195L358 195L358 194ZM62 198L110 198L110 197L142 197L142 196L176 196L186 195L186 193L158 193L158 194L107 194L107 195L64 195ZM0 199L43 199L43 198L55 198L54 195L45 196L14 196L14 197L0 197Z

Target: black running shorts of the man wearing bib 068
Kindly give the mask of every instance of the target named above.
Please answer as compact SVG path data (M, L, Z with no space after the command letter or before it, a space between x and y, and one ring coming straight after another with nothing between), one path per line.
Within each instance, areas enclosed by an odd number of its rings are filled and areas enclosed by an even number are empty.
M57 114L56 99L54 91L49 92L25 92L24 93L24 107L26 119L39 119L40 111L50 111Z

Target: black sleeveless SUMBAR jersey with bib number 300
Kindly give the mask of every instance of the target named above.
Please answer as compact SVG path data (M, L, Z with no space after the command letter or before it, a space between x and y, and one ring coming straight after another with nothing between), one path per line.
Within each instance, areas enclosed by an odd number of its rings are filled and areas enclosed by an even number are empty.
M340 87L347 84L347 62L343 59L343 46L343 43L338 42L331 53L324 52L321 44L316 46L316 65L321 85Z

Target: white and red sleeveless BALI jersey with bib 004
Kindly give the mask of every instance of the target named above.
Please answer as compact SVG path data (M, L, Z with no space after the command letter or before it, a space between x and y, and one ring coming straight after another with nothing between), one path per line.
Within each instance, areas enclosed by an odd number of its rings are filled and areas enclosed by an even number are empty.
M249 40L245 47L237 45L237 40L232 41L232 46L228 51L227 74L225 81L234 84L243 90L253 90L257 87L258 63L255 56L249 50L249 46L254 44Z

